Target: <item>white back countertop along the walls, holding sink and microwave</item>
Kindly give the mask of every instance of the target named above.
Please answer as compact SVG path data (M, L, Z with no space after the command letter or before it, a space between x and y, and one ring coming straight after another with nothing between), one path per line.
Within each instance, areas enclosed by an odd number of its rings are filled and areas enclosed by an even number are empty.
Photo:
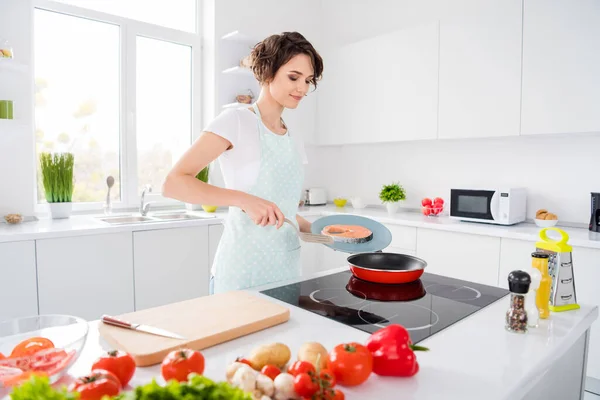
M205 217L205 219L111 225L98 219L98 217L103 217L103 215L74 215L71 218L63 220L43 218L39 221L24 222L18 225L0 223L0 243L51 237L219 224L222 223L226 217L227 210L220 209L213 214L204 211L190 211L190 213ZM426 217L417 212L407 211L399 211L394 215L389 215L385 209L374 207L354 209L348 205L343 208L338 208L333 205L301 207L298 209L298 213L303 216L324 216L339 213L355 214L373 218L386 224L398 224L449 232L462 232L530 241L539 240L539 231L541 229L531 223L500 226L457 221L447 216ZM152 212L150 215L152 215ZM569 244L572 246L600 249L600 234L590 232L588 229L584 228L561 227L561 229L569 234Z

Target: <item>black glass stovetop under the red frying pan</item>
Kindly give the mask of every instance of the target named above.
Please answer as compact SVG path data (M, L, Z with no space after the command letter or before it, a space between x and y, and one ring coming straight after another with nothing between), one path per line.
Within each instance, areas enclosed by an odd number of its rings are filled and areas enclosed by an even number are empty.
M509 291L429 273L412 283L383 285L344 271L261 293L369 333L397 323L417 343Z

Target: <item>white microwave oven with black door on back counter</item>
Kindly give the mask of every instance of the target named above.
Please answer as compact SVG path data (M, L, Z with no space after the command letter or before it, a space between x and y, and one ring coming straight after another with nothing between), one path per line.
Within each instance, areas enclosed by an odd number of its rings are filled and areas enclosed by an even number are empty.
M526 215L525 188L450 189L450 218L514 225L525 221Z

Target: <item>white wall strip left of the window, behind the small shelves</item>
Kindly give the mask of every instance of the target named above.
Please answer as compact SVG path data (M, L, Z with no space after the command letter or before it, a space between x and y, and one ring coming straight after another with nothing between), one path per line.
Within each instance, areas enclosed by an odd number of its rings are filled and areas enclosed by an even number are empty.
M12 44L15 62L32 59L30 0L0 1L0 39ZM13 121L0 120L0 217L33 214L35 176L33 134L33 71L0 69L0 99L13 100Z

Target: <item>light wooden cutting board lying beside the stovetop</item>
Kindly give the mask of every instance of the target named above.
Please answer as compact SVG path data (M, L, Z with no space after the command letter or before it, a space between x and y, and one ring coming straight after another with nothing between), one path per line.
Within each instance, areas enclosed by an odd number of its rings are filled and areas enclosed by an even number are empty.
M118 315L132 323L178 333L172 339L100 322L100 335L115 349L130 353L138 366L159 364L172 350L201 350L263 330L290 318L290 310L248 292L232 291Z

